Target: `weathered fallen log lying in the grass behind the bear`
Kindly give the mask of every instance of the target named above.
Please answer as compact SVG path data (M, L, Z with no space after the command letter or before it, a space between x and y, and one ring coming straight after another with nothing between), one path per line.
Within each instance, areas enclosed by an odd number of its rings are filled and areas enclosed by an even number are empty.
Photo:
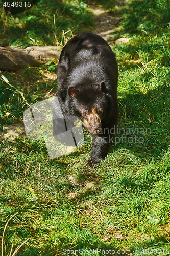
M31 46L17 50L0 46L0 70L20 70L26 66L38 67L50 59L58 60L60 53L60 46Z

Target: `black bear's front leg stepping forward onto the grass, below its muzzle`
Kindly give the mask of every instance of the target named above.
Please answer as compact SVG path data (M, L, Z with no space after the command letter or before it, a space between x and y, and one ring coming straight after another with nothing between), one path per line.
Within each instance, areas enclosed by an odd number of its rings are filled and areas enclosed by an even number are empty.
M94 164L100 163L101 160L104 160L109 153L109 148L108 135L93 135L91 153L86 166L88 168L93 168Z

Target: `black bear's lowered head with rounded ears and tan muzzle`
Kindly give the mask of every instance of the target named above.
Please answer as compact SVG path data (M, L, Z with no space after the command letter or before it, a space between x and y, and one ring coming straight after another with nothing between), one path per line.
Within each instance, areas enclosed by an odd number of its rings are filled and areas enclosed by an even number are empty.
M106 115L107 101L104 82L94 86L70 86L68 96L72 99L73 114L80 118L92 134L101 131L101 120Z

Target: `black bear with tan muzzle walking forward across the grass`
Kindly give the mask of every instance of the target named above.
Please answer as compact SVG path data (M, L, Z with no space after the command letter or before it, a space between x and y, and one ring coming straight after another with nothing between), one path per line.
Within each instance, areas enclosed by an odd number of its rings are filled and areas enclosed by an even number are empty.
M108 43L82 33L64 46L58 64L58 100L64 118L77 116L92 134L88 167L104 160L118 122L118 68ZM55 115L55 103L53 109ZM53 118L53 135L59 133Z

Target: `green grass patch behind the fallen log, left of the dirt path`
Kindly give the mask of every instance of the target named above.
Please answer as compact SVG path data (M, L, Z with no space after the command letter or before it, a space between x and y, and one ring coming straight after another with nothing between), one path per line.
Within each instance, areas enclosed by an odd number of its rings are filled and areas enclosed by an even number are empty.
M0 3L2 6L2 3ZM62 42L62 31L80 32L93 26L92 14L83 1L41 0L26 13L6 17L1 8L1 43L15 46L48 46ZM66 36L71 37L71 34ZM57 39L57 40L56 40ZM24 47L24 48L25 48Z

